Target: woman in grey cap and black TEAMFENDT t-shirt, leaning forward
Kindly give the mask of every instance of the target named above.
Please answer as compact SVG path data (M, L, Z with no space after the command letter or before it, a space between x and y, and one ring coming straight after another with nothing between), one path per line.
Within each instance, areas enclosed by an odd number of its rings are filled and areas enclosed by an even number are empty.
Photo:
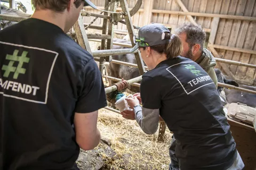
M181 170L242 169L215 84L201 66L179 56L180 38L153 23L140 28L135 41L131 52L139 48L150 71L142 76L140 94L126 98L133 111L122 112L123 117L153 134L160 115L177 140Z

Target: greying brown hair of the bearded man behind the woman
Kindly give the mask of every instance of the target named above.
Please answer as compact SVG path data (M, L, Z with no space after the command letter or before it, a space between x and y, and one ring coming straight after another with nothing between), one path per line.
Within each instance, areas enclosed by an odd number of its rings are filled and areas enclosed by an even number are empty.
M192 48L194 45L199 44L201 46L200 50L203 51L206 33L201 25L194 25L193 23L186 22L177 28L175 33L177 33L177 35L186 33L186 42L188 43L189 47Z

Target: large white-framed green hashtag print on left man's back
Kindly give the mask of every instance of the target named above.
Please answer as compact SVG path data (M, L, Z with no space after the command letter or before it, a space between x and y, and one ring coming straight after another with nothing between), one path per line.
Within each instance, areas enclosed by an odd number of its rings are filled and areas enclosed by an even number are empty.
M0 41L0 94L47 104L49 84L58 53Z

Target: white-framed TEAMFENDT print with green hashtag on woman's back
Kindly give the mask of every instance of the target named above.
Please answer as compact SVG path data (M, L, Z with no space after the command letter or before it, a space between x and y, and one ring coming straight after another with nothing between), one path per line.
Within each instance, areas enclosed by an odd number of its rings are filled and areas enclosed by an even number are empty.
M205 71L202 71L201 66L194 61L174 64L166 70L179 82L187 95L204 86L214 84L211 77ZM188 80L187 77L192 79Z

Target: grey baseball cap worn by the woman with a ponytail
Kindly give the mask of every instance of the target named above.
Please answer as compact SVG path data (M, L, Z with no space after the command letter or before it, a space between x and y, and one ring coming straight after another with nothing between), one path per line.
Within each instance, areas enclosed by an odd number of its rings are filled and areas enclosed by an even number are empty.
M151 23L139 29L138 38L135 37L135 46L130 50L133 53L139 47L150 47L159 44L167 44L169 39L164 39L165 32L171 33L163 24Z

